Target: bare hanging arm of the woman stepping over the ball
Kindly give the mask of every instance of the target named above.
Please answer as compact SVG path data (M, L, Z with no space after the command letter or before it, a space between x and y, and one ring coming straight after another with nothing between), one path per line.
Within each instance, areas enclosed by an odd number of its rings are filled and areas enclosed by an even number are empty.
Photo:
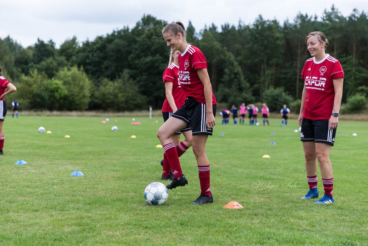
M208 128L213 128L216 125L215 117L212 111L212 85L209 80L207 69L197 69L197 74L204 86L205 100L206 100L206 123Z

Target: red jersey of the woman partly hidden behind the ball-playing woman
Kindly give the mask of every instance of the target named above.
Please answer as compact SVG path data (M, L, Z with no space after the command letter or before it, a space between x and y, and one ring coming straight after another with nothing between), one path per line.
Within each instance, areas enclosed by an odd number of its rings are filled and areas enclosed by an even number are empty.
M181 89L181 85L178 80L179 78L178 70L179 67L176 66L174 63L171 63L170 66L166 68L165 72L163 72L162 81L163 83L165 83L165 81L173 83L172 94L174 97L175 105L177 108L180 108L184 104L184 101L187 97L184 95L184 92ZM170 104L167 101L166 91L165 91L165 101L163 102L162 105L162 112L173 112L173 109L170 107Z

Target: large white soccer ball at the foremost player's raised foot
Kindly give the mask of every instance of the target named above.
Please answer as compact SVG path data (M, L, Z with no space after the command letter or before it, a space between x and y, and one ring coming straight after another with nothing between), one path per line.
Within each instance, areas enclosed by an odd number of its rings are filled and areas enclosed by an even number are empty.
M160 182L153 182L144 190L144 199L151 205L164 204L168 196L169 193L166 186Z

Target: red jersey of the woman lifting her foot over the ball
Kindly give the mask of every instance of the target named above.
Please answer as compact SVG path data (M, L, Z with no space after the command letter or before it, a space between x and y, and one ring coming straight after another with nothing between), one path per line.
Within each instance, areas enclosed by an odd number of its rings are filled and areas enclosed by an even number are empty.
M203 53L195 46L188 45L183 54L179 55L179 82L187 97L193 97L199 103L206 104L204 85L199 79L197 69L207 69L207 60ZM216 104L212 92L212 104Z

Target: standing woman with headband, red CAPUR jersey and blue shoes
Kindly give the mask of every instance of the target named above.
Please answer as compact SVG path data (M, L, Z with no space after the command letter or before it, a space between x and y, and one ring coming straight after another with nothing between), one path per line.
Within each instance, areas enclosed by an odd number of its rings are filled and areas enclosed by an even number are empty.
M325 194L316 204L331 204L333 175L330 150L335 142L343 94L344 71L340 62L325 53L328 40L322 32L311 32L305 39L312 58L303 67L304 80L299 114L300 138L303 142L308 193L301 199L318 197L317 162L321 169Z

